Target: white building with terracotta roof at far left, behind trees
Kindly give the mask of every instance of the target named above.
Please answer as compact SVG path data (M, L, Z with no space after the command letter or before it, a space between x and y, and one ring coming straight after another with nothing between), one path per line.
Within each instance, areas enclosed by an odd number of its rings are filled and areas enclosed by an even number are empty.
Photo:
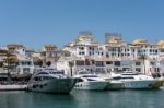
M14 69L9 70L11 74L28 74L28 73L32 74L33 73L33 70L34 70L33 60L25 55L25 49L26 48L20 44L10 44L10 45L7 45L7 47L2 49L12 53L13 55L12 58L15 59L15 61L11 62L11 65L15 67ZM8 58L7 55L3 53L2 56L0 56L0 58L3 64L7 65L7 63L4 62L4 59ZM1 72L7 73L8 70L4 68L1 68Z

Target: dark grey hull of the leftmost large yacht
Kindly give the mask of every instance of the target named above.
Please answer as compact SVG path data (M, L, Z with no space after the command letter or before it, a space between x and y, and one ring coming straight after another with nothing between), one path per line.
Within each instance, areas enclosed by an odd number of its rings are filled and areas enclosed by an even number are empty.
M30 82L28 91L43 93L69 94L77 79L51 79L46 81Z

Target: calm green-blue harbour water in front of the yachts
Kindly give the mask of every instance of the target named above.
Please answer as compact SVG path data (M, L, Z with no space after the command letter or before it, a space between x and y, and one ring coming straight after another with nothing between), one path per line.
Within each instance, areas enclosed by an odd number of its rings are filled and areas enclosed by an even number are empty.
M164 108L164 89L72 91L70 95L0 92L0 108Z

